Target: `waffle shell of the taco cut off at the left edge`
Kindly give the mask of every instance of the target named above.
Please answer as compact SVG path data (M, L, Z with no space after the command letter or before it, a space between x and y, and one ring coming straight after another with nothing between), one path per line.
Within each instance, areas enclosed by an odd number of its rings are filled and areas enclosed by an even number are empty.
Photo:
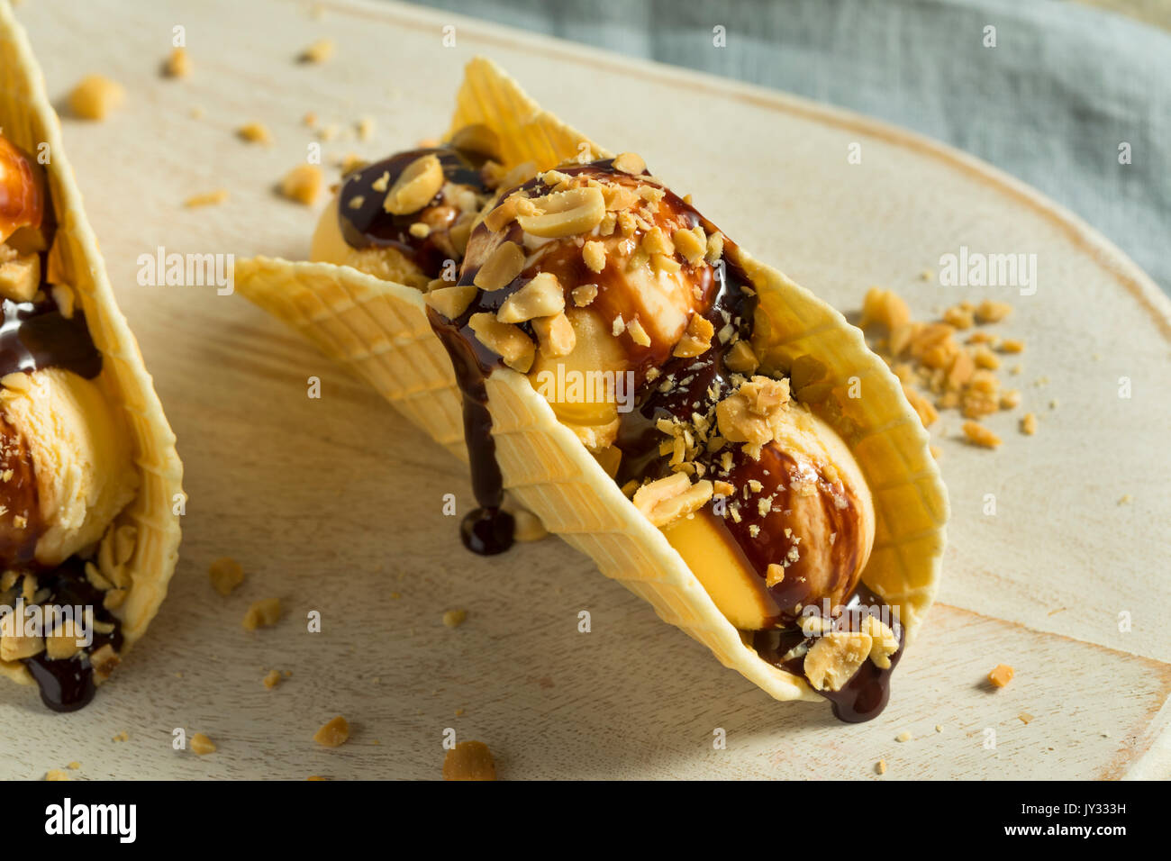
M133 444L138 494L111 527L131 526L137 533L133 553L123 566L130 581L126 600L114 611L122 622L124 654L146 633L174 573L179 519L172 512L183 493L183 464L138 343L114 299L41 70L7 0L0 0L0 127L26 152L36 153L42 143L48 144L52 159L46 172L57 218L50 262L61 273L59 280L74 289L85 314L94 344L102 354L102 374L96 382L121 414ZM19 662L0 662L0 674L33 684Z

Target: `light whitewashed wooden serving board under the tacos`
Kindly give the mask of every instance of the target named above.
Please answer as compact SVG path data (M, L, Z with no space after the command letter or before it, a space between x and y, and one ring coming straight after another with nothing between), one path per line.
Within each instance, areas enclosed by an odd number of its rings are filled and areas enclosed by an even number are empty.
M434 778L446 727L486 742L508 779L1171 775L1171 312L1132 264L1014 180L857 116L445 13L319 6L18 8L55 98L90 73L126 87L122 110L66 118L64 137L178 433L190 504L170 597L88 709L52 715L33 689L0 690L0 775L76 760L77 779ZM185 81L158 74L176 25L194 67ZM443 47L445 25L456 47ZM335 40L333 60L296 63L321 37ZM159 246L303 257L317 210L272 187L315 139L303 115L348 130L323 144L327 160L409 148L443 134L475 54L605 146L642 153L742 246L843 310L870 285L924 317L963 299L1015 305L998 330L1027 341L1025 370L1005 380L1040 430L1019 435L1021 411L993 418L1006 443L989 452L960 442L961 419L945 414L945 578L879 719L844 725L822 704L773 702L556 539L472 556L440 512L445 493L471 505L464 467L363 384L240 296L137 285L138 255ZM377 130L359 143L362 116ZM251 121L272 146L237 139ZM848 164L851 143L861 164ZM220 206L182 205L220 187ZM1036 294L920 280L960 246L1035 253ZM321 399L307 397L310 376ZM995 515L982 513L989 493ZM248 572L228 599L207 581L221 555ZM246 633L245 609L267 596L281 597L283 621ZM452 630L440 617L454 608L468 616ZM314 609L321 634L306 630ZM589 634L577 633L582 609ZM993 692L984 678L998 663L1016 677ZM271 668L293 672L273 691L261 685ZM337 713L351 740L319 747L314 731ZM207 733L218 752L172 750L176 727ZM129 740L111 740L123 731ZM913 740L896 743L904 731Z

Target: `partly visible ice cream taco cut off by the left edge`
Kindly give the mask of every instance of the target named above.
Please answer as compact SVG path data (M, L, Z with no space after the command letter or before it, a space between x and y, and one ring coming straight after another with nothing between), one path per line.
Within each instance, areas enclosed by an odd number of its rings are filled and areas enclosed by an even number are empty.
M166 594L183 470L7 0L0 298L0 672L70 711Z

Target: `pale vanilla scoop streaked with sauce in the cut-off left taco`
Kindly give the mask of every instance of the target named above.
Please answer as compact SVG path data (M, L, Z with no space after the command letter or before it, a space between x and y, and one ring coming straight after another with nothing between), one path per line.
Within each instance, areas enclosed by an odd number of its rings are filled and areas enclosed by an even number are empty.
M97 542L133 498L129 435L97 383L73 371L18 371L0 383L0 547L32 547L36 562L56 566Z

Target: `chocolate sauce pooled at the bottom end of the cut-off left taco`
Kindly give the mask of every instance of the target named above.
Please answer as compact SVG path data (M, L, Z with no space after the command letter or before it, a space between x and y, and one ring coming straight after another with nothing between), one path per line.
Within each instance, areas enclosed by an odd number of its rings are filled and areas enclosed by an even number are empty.
M94 698L94 668L89 656L103 645L122 650L122 626L103 606L104 593L85 578L85 563L77 556L52 572L37 574L37 588L49 589L46 604L93 608L95 622L114 624L109 634L93 631L93 642L74 657L52 660L47 651L25 658L25 667L41 689L41 701L53 711L77 711Z

